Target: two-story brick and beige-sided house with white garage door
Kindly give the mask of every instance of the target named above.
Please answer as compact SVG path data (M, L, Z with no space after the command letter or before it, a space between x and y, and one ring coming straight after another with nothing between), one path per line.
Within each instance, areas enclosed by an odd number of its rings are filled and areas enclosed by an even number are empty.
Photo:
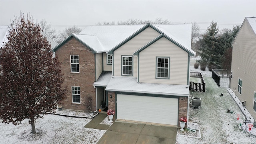
M106 105L118 120L174 126L188 116L191 24L87 26L53 52L68 89L63 108Z

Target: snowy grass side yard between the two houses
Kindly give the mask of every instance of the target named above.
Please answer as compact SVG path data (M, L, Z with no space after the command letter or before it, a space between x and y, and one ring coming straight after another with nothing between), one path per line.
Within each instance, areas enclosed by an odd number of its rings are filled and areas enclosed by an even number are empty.
M204 76L204 80L206 92L190 91L190 96L202 98L202 103L201 109L189 108L188 120L190 123L198 123L201 138L186 137L184 135L190 135L189 133L193 132L178 130L176 144L255 144L255 136L239 128L236 115L240 114L242 120L245 118L236 102L228 94L227 88L218 88L211 77ZM219 96L221 93L224 96ZM228 108L233 113L227 113ZM198 137L195 134L194 136Z

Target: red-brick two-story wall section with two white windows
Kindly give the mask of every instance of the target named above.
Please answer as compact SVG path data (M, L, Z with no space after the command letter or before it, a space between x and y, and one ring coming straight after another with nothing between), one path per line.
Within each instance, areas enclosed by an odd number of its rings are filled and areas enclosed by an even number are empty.
M96 89L92 84L95 81L95 55L84 44L71 37L58 50L56 56L61 62L64 74L63 86L67 86L67 98L62 102L63 108L73 110L96 110ZM70 55L79 55L79 73L70 70ZM72 104L72 86L80 86L81 104ZM91 102L88 99L91 98ZM91 109L88 110L88 107Z

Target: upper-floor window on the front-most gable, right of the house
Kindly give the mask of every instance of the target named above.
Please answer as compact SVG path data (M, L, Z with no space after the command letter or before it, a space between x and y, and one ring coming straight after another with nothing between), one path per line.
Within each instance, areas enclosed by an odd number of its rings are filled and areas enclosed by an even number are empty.
M156 78L169 78L170 58L156 58Z

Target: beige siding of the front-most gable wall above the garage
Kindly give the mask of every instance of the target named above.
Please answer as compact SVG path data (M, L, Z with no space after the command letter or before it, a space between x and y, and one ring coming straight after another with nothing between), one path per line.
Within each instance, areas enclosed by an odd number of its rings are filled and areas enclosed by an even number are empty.
M156 57L170 57L169 79L156 78ZM139 82L187 84L188 53L164 37L142 50L139 62Z

